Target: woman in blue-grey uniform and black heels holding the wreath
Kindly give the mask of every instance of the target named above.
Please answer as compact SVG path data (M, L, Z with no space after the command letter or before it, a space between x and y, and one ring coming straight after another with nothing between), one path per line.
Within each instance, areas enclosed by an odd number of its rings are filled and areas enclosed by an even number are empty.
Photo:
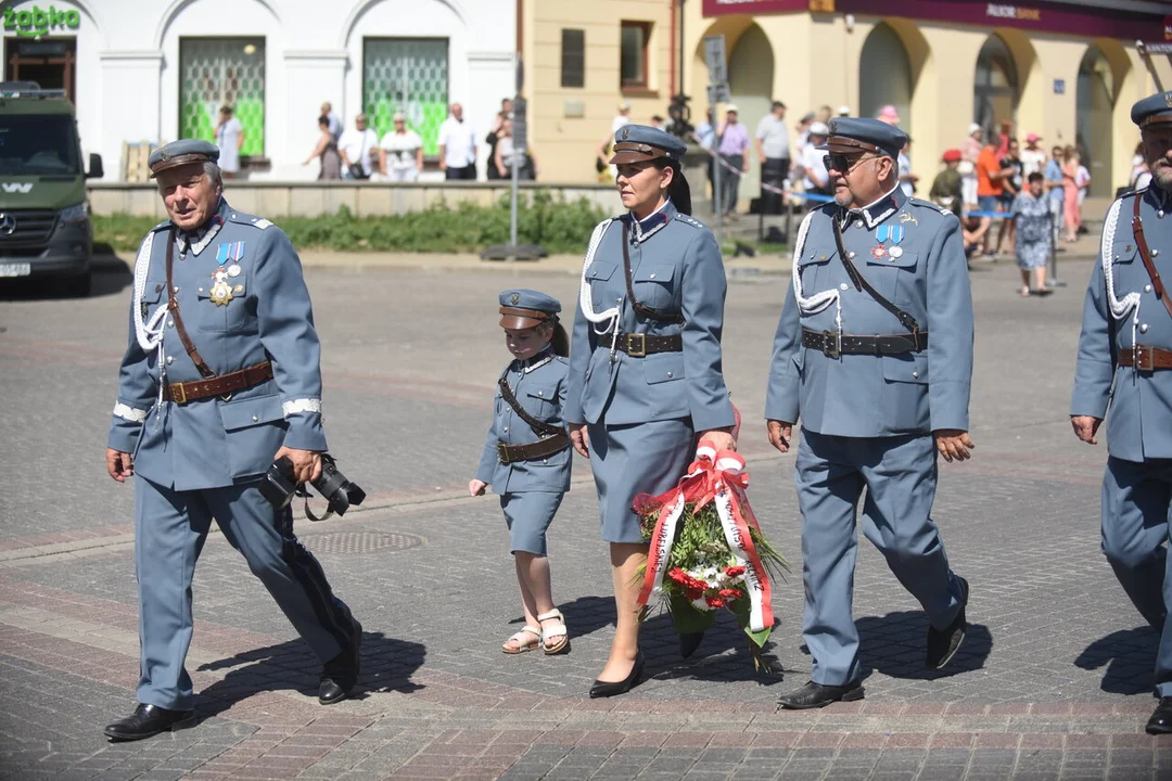
M629 211L594 229L582 266L563 418L574 448L591 459L618 610L591 697L622 694L642 674L635 578L647 543L635 495L673 487L697 434L735 447L721 374L724 263L711 232L689 215L686 149L655 128L618 131L611 164ZM696 644L681 638L686 656Z

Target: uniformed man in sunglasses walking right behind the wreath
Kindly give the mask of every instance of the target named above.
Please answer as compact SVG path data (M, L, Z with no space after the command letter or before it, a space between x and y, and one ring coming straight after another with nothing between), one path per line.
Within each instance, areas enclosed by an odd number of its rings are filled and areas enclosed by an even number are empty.
M895 158L907 136L875 119L838 118L819 146L834 203L797 234L769 374L769 439L797 455L810 681L788 708L863 698L851 615L863 532L928 615L929 669L965 638L968 583L948 567L931 518L936 457L965 460L973 374L973 300L960 221L908 198Z

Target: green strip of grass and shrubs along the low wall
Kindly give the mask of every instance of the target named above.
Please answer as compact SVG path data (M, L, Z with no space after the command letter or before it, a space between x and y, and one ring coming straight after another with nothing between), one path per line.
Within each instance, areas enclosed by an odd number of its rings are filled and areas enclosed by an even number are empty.
M517 240L539 244L551 253L581 253L591 231L607 217L585 198L554 199L537 191L519 196ZM509 241L509 198L495 206L444 204L391 217L354 217L345 206L336 214L273 219L298 249L340 252L477 252ZM94 217L94 241L116 251L135 251L158 220L114 214Z

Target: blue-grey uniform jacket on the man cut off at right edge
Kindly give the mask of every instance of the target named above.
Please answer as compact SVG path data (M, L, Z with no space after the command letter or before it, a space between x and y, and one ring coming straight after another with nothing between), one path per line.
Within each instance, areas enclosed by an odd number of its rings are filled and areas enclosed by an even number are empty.
M1152 262L1164 280L1172 279L1172 196L1156 186L1123 196L1103 224L1070 405L1070 415L1108 418L1108 451L1126 461L1172 458L1172 371L1118 365L1118 355L1136 344L1172 350L1172 317L1152 289L1131 229L1136 198Z

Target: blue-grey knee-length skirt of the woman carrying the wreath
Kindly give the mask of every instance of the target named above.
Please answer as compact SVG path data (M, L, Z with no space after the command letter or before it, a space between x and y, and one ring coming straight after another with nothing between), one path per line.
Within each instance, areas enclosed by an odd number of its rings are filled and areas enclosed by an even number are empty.
M673 488L696 455L691 418L652 420L628 426L592 424L590 465L598 489L598 513L607 542L642 542L631 505L641 493Z

